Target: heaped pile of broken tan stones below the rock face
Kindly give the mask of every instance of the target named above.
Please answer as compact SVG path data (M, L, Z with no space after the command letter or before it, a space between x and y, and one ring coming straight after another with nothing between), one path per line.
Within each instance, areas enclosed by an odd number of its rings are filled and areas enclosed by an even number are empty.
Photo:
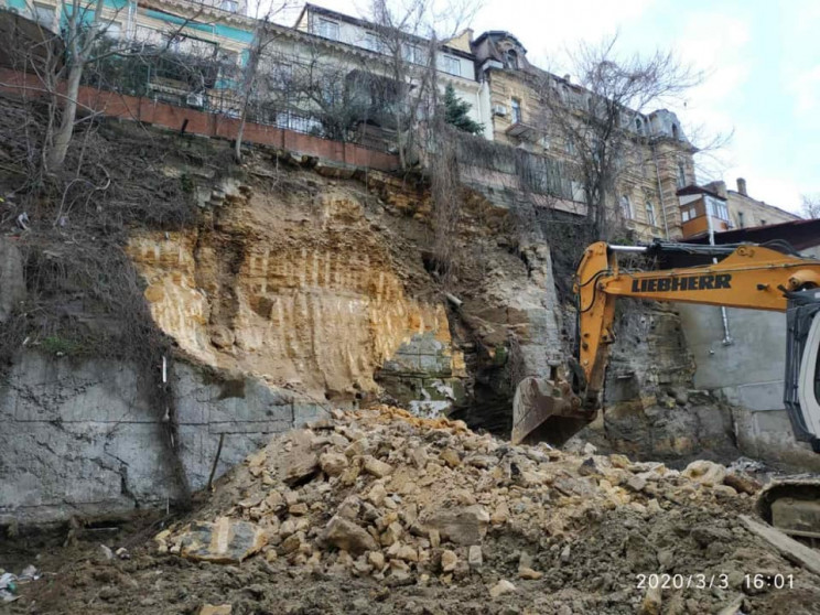
M532 583L646 613L660 594L636 592L640 574L725 574L725 592L681 591L670 611L702 612L735 597L744 573L789 568L736 521L758 488L708 461L678 472L591 445L515 446L380 407L273 439L217 483L196 521L154 541L191 561L255 557L388 587L479 582L490 600Z

